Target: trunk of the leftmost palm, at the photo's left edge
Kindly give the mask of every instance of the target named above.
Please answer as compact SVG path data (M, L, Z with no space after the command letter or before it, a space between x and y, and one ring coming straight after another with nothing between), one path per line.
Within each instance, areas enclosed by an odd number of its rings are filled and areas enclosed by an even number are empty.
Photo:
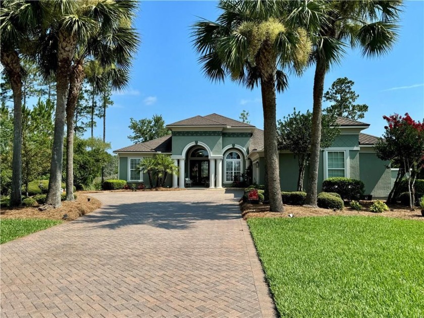
M10 206L22 203L22 78L19 55L16 51L2 49L0 59L4 65L13 91L13 160L12 160L12 193Z

